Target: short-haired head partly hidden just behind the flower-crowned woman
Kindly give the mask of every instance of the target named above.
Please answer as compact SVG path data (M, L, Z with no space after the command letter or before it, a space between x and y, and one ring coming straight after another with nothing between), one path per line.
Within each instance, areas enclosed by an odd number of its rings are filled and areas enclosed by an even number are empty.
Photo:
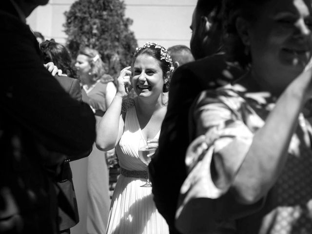
M168 54L172 59L175 69L185 63L194 61L190 48L185 45L174 45L169 47Z

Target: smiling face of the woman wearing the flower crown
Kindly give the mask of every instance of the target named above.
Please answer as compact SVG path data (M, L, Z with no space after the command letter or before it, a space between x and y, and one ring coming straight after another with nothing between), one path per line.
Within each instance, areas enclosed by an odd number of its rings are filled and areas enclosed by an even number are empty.
M159 96L162 93L164 76L160 61L154 57L141 54L133 66L132 86L138 97Z

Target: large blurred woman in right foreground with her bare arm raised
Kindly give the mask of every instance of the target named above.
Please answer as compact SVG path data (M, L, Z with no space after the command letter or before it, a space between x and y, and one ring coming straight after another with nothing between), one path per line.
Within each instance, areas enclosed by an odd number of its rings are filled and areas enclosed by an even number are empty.
M312 1L226 0L223 15L227 53L249 69L194 102L176 228L309 234Z

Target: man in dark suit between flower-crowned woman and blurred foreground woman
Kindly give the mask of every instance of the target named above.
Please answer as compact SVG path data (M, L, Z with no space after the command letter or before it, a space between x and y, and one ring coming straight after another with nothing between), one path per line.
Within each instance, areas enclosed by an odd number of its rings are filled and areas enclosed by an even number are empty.
M176 206L187 176L184 159L192 141L188 127L191 104L201 91L225 85L242 74L221 52L220 9L221 0L197 1L191 25L191 51L197 60L178 67L173 75L159 146L149 165L154 201L171 234L178 233Z

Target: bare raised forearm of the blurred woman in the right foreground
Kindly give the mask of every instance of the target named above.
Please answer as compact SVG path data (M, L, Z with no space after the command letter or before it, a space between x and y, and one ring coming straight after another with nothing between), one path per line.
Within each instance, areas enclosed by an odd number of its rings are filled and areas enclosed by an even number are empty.
M265 124L254 135L244 162L234 179L238 200L254 203L274 185L283 169L298 115L311 96L309 70L301 74L280 96Z

